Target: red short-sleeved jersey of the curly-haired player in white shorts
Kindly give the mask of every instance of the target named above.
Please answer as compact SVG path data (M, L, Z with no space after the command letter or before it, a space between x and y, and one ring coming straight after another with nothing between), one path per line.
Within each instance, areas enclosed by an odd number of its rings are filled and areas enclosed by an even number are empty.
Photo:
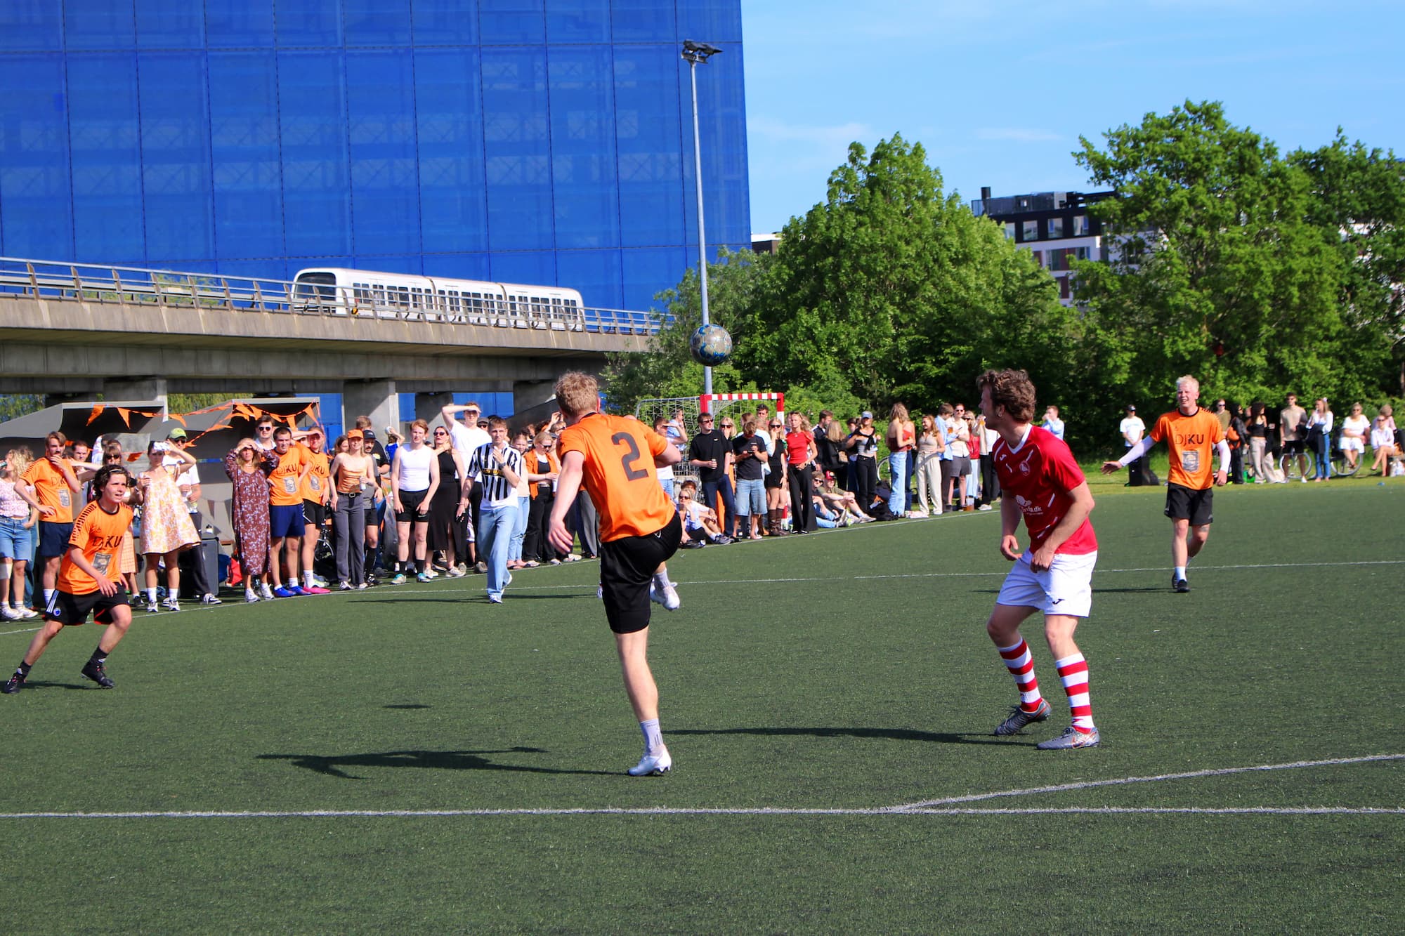
M1073 505L1069 492L1083 483L1083 469L1062 438L1038 426L1030 426L1030 434L1019 448L1010 448L1003 437L998 437L991 455L1000 490L1007 498L1013 496L1024 514L1030 550L1038 550ZM1096 551L1097 537L1090 520L1083 520L1083 526L1055 550L1068 555Z

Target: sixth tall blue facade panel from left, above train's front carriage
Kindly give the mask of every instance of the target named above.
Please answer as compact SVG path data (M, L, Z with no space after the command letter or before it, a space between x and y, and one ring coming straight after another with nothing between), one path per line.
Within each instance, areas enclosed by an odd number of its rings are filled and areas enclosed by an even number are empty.
M347 53L353 243L420 252L414 69L409 49Z

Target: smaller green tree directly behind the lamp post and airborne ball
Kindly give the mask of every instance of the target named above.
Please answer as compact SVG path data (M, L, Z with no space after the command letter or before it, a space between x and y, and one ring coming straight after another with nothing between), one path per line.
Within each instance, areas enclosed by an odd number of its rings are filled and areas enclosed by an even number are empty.
M718 250L708 264L708 319L732 334L733 347L742 339L738 323L753 302L757 282L766 277L770 254L750 250ZM651 396L697 396L702 392L702 365L688 353L688 339L702 323L702 301L695 268L673 290L655 297L662 309L651 311L659 332L643 354L607 356L601 382L611 409L634 412ZM712 389L718 394L754 391L733 361L712 368ZM770 388L763 388L770 389Z

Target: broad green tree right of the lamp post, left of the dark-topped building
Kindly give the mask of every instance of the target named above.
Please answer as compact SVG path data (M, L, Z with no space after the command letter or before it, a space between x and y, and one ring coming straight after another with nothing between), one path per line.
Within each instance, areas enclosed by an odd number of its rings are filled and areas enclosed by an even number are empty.
M875 409L969 399L992 364L1058 382L1073 336L1050 275L944 195L901 135L871 155L850 145L825 202L785 225L738 333L738 367L757 384Z

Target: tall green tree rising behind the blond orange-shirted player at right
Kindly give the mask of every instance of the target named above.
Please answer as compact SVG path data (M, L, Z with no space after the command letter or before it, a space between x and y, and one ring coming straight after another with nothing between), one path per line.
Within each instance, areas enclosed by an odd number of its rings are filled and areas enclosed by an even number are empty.
M1218 103L1187 101L1103 139L1099 149L1083 138L1075 153L1094 184L1117 191L1090 209L1111 261L1073 264L1078 370L1096 408L1166 401L1186 372L1241 401L1360 382L1342 358L1352 337L1342 253L1309 219L1307 173Z

